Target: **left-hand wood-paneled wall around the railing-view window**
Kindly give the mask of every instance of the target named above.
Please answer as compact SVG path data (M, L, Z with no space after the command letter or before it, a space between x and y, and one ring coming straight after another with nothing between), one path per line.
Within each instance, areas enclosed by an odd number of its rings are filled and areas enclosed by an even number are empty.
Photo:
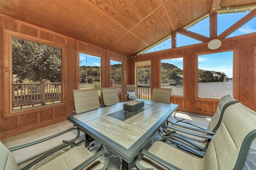
M110 60L123 63L126 70L127 57L118 53L88 44L66 35L15 20L7 16L0 18L0 139L66 121L74 110L72 90L79 88L79 53L101 57L102 87L110 87ZM10 56L11 37L18 37L37 43L62 48L62 87L63 103L33 109L11 110L12 69ZM126 72L126 71L125 71ZM128 80L128 72L123 75L124 84ZM126 100L125 93L119 93L120 100ZM102 97L99 97L103 103Z

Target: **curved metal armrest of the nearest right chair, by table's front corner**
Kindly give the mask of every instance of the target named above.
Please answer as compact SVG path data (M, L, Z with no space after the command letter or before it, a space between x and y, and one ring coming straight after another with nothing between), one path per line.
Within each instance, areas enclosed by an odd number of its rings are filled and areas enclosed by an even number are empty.
M176 167L176 166L174 166L174 165L172 165L172 164L166 162L165 160L162 160L162 159L159 158L158 156L156 156L156 155L154 155L154 154L148 152L148 151L145 150L145 149L142 149L140 152L141 152L142 154L144 154L145 156L147 156L148 158L150 158L150 159L156 161L158 164L161 164L162 166L168 168L169 170L181 170L180 168L178 168L178 167ZM140 170L153 170L153 169L150 169L150 168L145 168L145 167L143 167L143 166L140 164L140 162L139 162L139 160L138 160L137 157L134 158L134 162L135 162L137 168L140 169Z

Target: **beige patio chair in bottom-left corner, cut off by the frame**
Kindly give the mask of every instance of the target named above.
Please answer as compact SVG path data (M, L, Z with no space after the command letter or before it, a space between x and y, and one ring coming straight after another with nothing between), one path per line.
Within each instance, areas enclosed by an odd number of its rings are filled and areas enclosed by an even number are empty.
M0 150L1 150L1 160L0 160L0 169L1 170L18 170L19 167L16 163L16 160L14 156L12 155L11 151L22 149L25 147L29 147L31 145L35 145L38 143L42 143L44 141L47 141L49 139L53 139L54 137L57 137L59 135L62 135L70 130L74 130L77 128L71 128L66 131L63 131L61 133L58 133L56 135L52 135L50 137L40 139L38 141L34 141L31 143L27 143L24 145L20 145L17 147L13 147L10 149L7 149L2 142L0 141ZM78 129L77 129L78 130ZM92 154L86 147L83 146L78 146L75 141L79 137L79 130L78 130L78 135L75 139L72 141L63 141L64 144L60 145L59 147L56 147L54 149L49 150L48 152L44 153L42 156L39 158L35 159L34 161L30 162L28 165L24 166L21 168L21 170L26 170L37 164L38 162L44 160L44 158L48 158L50 160L47 160L46 164L44 165L38 165L39 168L38 170L63 170L63 169L83 169L85 167L90 168L90 169L95 169L95 170L105 170L108 166L109 162L109 155L108 152L105 150L101 150L100 152L97 152L96 154ZM74 145L72 149L69 149L67 152L64 152L60 156L52 156L52 158L48 157L52 155L54 152L66 148L69 145ZM98 158L102 156L102 154L106 154L106 160L104 164L98 161ZM55 157L55 158L54 158Z

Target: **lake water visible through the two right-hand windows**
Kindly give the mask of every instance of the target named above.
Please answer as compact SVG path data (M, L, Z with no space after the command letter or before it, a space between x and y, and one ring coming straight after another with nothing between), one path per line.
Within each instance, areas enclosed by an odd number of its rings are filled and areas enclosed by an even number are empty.
M183 96L183 86L165 84L162 87L172 88L173 95ZM198 97L220 99L227 94L233 96L232 81L198 83Z

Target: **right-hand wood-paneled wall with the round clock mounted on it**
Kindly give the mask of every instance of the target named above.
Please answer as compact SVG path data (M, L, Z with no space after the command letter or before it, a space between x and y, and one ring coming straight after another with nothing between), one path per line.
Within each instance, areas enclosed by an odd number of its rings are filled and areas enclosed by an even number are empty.
M184 96L172 95L171 102L178 104L180 111L212 116L218 106L215 99L198 98L198 55L213 52L234 51L234 98L256 111L256 33L221 39L222 46L210 50L208 43L178 47L129 57L129 83L134 84L135 63L151 61L151 90L160 87L160 60L183 57Z

